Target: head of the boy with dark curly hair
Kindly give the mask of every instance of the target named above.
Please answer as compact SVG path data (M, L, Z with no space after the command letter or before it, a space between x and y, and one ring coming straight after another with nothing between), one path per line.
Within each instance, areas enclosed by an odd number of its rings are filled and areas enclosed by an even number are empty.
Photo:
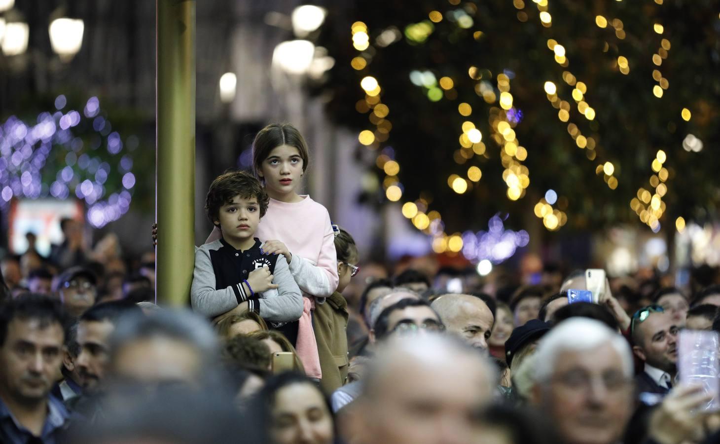
M220 174L205 198L207 217L228 242L253 239L269 197L261 183L244 171Z

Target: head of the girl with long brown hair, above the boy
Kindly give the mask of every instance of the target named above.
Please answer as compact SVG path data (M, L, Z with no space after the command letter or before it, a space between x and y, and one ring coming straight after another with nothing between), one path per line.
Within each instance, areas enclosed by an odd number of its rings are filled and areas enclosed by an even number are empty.
M253 141L253 173L273 197L297 194L310 161L307 143L289 124L274 123L261 129Z

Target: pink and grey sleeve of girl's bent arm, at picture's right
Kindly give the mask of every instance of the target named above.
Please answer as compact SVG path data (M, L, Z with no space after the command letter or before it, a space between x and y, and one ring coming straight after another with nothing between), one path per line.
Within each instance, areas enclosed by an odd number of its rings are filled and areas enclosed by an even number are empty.
M318 262L312 262L297 254L292 254L290 272L300 290L319 298L328 298L338 288L338 256L335 251L335 234L330 224L330 216L325 215L325 233L320 248ZM292 253L292 252L291 252Z

